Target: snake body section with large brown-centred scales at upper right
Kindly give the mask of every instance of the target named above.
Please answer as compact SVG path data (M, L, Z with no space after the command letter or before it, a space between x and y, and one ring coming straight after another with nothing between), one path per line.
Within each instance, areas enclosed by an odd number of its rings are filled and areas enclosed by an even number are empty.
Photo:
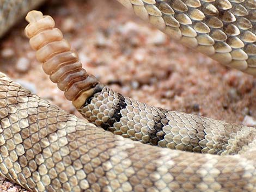
M256 0L118 0L188 47L256 75Z

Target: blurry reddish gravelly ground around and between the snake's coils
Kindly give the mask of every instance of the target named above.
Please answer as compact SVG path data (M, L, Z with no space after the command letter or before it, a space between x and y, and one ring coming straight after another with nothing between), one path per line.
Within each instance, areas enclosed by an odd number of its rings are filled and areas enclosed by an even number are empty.
M254 125L256 80L169 39L114 0L51 1L53 16L84 68L102 83L156 107ZM35 60L21 21L0 42L0 70L16 82L79 115ZM0 192L23 191L0 180Z

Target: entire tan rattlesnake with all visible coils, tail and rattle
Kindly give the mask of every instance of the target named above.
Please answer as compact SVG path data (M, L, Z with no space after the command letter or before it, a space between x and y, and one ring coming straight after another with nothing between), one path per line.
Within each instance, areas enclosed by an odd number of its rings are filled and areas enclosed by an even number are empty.
M255 74L254 0L118 1L174 38ZM1 34L17 13L39 3L1 1ZM256 191L255 128L170 112L114 92L81 69L50 16L32 11L26 18L44 71L96 126L1 73L2 176L32 191Z

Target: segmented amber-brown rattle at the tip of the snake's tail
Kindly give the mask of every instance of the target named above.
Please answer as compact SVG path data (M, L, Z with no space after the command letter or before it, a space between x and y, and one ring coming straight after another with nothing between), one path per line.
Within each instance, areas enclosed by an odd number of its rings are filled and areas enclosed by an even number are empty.
M100 89L100 84L93 75L82 69L76 51L72 50L63 34L55 28L51 16L43 16L40 11L27 14L29 22L25 29L29 43L36 50L36 59L42 63L42 69L53 83L57 83L65 97L74 106L80 107L84 100Z

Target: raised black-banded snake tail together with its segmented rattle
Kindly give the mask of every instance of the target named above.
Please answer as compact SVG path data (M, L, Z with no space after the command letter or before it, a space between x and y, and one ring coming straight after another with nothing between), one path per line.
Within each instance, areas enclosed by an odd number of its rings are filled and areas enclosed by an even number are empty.
M52 17L31 11L27 20L30 24L26 34L32 47L38 49L36 57L43 62L45 72L61 90L68 90L65 92L68 98L80 94L80 105L75 107L96 126L145 144L212 154L237 154L255 138L255 130L249 127L152 107L97 84L95 78L87 83L86 70L81 69L75 52L70 52L68 42L62 40L62 33L53 28ZM75 89L70 97L72 84L80 84L77 81L80 79L85 79L81 81L84 87ZM241 138L246 138L245 142L237 143Z

